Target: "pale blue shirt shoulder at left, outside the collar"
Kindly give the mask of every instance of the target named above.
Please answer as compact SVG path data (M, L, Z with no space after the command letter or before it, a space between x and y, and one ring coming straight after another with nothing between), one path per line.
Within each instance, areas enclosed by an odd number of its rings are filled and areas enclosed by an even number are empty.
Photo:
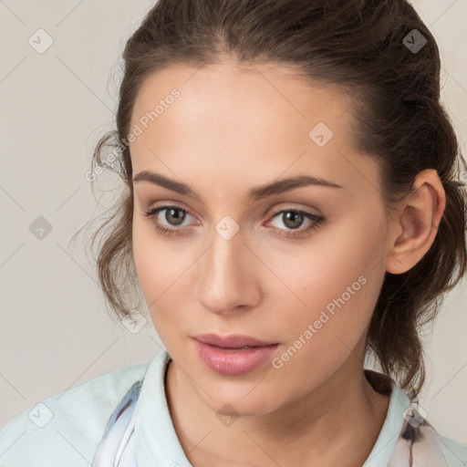
M24 410L0 431L0 465L90 465L113 410L148 365L110 371Z

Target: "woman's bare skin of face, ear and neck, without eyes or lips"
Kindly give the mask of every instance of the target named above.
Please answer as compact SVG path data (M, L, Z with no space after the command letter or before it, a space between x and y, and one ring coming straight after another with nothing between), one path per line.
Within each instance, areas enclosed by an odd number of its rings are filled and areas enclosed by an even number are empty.
M389 406L363 374L369 320L385 273L409 270L430 248L445 205L441 181L420 172L389 218L379 166L355 149L351 99L290 68L229 59L170 67L144 82L132 124L172 88L181 97L131 144L133 173L184 182L200 200L134 182L132 228L141 289L172 358L166 394L182 448L193 466L361 466ZM324 147L308 137L318 122L334 133ZM251 188L298 174L342 188L245 201ZM144 215L173 203L192 213L182 226L170 210ZM314 221L304 217L294 230L282 209L325 221L305 233ZM226 215L239 227L230 240L215 230ZM156 221L179 234L157 232ZM365 285L282 368L222 376L195 352L195 334L238 333L279 342L280 357L361 275ZM226 425L218 414L238 418Z

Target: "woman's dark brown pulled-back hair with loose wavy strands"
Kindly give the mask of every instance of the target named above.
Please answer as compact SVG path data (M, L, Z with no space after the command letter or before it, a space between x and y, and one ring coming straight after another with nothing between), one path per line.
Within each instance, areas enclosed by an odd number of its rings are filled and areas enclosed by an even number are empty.
M426 39L414 52L404 37ZM410 36L409 36L410 37ZM411 40L413 42L413 39ZM358 150L378 162L387 213L413 190L416 175L437 171L446 207L430 250L409 271L386 272L368 327L367 350L410 399L425 380L420 327L433 320L442 294L466 269L465 161L440 101L441 60L430 30L405 0L159 0L123 51L117 130L94 150L92 166L109 168L126 190L95 232L99 283L121 319L138 285L131 248L133 213L131 111L150 75L174 65L202 67L231 57L240 65L293 67L312 82L353 96L348 109ZM117 151L109 166L107 150Z

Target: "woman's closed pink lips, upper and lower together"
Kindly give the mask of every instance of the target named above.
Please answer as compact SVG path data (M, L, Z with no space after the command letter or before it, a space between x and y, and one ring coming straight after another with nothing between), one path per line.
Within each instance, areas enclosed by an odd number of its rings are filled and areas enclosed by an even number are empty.
M239 334L225 337L202 334L192 338L198 357L204 365L227 376L243 375L265 365L279 346L278 342Z

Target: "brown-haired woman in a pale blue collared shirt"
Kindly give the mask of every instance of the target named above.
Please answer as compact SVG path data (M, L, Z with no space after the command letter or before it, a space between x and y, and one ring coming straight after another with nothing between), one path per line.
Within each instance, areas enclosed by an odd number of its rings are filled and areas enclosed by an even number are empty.
M466 222L413 8L160 0L124 60L99 278L127 324L140 285L165 348L12 420L0 462L465 465L418 404L420 323L465 273Z

